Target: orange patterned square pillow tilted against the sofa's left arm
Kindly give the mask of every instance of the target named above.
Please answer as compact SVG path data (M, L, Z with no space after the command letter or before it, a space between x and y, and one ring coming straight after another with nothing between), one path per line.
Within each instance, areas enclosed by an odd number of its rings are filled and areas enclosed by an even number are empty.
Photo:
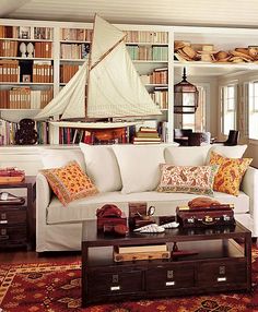
M44 169L40 172L47 178L54 193L64 206L74 200L98 193L75 160L63 167Z

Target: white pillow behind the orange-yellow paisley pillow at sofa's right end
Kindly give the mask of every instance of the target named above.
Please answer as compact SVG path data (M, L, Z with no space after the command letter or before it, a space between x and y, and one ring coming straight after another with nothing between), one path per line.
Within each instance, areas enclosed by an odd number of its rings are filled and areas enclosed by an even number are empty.
M215 152L215 153L220 154L221 156L227 157L227 158L242 158L246 148L247 148L246 144L245 145L234 145L234 146L214 144L214 145L212 145L212 147L210 148L210 151L208 153L206 164L209 164L209 161L210 161L211 152Z

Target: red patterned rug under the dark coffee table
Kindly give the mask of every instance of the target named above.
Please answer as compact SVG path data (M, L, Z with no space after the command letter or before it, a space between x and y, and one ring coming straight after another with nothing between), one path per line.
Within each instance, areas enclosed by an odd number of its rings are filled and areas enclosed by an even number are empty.
M258 311L258 250L251 293L177 297L81 308L79 262L0 265L0 312L235 312Z

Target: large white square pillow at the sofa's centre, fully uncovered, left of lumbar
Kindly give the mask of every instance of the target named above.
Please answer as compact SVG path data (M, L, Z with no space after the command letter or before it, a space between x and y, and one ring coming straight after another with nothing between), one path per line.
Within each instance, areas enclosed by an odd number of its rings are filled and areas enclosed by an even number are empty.
M155 190L160 179L160 164L164 159L163 145L113 145L119 164L122 193Z

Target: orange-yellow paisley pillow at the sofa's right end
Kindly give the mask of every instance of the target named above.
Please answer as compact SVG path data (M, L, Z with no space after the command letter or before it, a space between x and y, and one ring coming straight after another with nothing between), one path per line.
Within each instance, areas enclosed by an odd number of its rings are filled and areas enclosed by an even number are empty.
M242 179L251 160L251 158L227 158L211 152L210 165L220 165L213 190L237 196Z

